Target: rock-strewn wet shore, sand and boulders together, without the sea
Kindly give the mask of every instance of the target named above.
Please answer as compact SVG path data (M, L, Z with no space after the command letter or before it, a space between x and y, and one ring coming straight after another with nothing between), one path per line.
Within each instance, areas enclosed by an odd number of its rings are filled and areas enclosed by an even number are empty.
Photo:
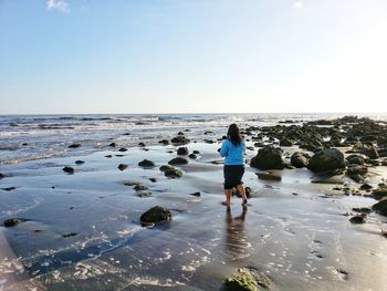
M367 257L365 232L385 241L387 124L344 116L273 126L243 123L241 128L249 214L226 214L226 229L217 153L226 136L212 131L192 135L185 128L160 136L157 145L139 139L136 147L111 141L109 150L88 156L2 168L0 217L15 260L51 290L66 284L82 290L86 279L103 290L106 276L115 288L138 290L285 290L289 284L311 290L315 281L338 290L364 280L344 261L335 262L335 256L356 261L351 248L343 253L324 248L349 231L339 243L362 237L359 258L367 264L376 260ZM83 147L77 142L63 146ZM240 204L234 195L232 211ZM307 253L296 247L301 237ZM385 250L378 256L387 261ZM90 260L92 269L83 270L80 266ZM104 263L108 267L101 271ZM118 270L123 277L115 274ZM127 271L137 277L124 279ZM200 280L208 285L200 287Z

